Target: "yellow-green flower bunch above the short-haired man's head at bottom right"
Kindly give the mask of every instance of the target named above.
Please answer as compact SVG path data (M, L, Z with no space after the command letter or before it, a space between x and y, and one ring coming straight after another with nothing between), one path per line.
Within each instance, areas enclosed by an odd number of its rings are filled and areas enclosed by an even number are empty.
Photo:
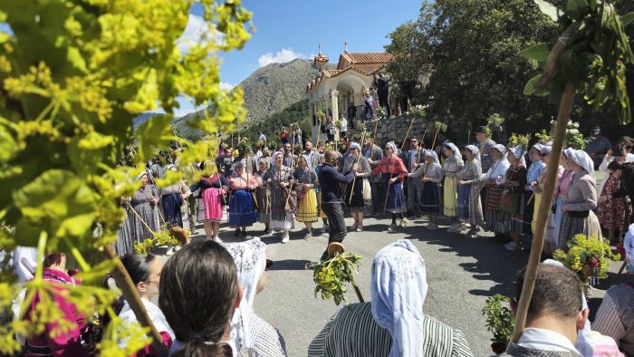
M576 235L566 245L569 248L568 253L557 249L552 257L582 278L596 276L605 279L608 277L610 260L620 260L620 255L612 253L609 244L595 236L589 239L585 235Z

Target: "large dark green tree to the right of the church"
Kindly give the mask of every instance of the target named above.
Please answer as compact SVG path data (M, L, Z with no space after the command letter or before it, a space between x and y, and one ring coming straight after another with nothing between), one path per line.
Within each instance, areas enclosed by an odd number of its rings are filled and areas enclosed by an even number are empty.
M614 3L621 13L634 7L627 0ZM425 1L416 21L389 34L386 51L395 57L388 68L397 82L428 76L415 102L429 104L429 118L451 124L449 137L466 137L493 113L506 118L506 132L534 132L549 127L559 98L524 95L538 64L518 53L552 40L557 29L524 0ZM614 111L591 112L581 98L577 104L572 116L581 131L600 122L623 132Z

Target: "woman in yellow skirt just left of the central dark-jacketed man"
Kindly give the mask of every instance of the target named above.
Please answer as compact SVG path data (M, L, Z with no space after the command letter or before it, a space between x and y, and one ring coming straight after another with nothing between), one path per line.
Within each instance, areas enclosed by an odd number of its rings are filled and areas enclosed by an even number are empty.
M312 235L312 222L317 222L317 195L315 185L317 184L317 174L308 165L306 157L299 156L297 169L293 172L295 178L294 189L297 192L299 201L295 217L298 222L303 222L306 226L304 238Z

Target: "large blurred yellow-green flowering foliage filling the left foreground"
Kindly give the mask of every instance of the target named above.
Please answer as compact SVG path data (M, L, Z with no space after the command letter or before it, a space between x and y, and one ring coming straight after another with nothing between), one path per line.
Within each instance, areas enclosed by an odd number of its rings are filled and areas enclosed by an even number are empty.
M185 96L197 106L211 107L192 122L207 132L233 130L245 117L242 90L220 88L218 51L241 48L250 36L251 14L240 0L203 0L207 31L186 50L177 39L187 25L191 1L172 0L4 0L0 22L0 245L38 246L65 252L81 267L83 284L70 289L68 299L82 313L111 314L106 308L115 292L101 288L101 276L112 268L103 262L103 246L117 236L123 209L120 198L138 183L126 176L139 173L156 148L175 138L170 127L175 98ZM133 131L142 111L163 108ZM136 140L136 169L113 169L124 149ZM213 142L187 145L181 167L205 161ZM211 167L212 165L210 165ZM190 181L200 171L188 173ZM178 180L168 177L160 184ZM103 262L103 263L102 263ZM4 276L4 275L3 275ZM25 306L35 293L51 288L38 266L34 281L25 285ZM20 287L0 284L0 310L8 311ZM43 299L34 323L0 324L0 352L13 354L15 331L40 333L44 323L62 320L53 301ZM139 329L104 334L105 355L130 355L116 348L117 338L130 336L135 348L143 343ZM119 331L119 333L116 333Z

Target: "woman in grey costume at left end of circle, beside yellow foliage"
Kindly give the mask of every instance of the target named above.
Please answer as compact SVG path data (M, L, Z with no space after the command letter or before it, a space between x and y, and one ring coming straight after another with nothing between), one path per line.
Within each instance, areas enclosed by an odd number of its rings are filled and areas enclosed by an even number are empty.
M154 185L148 181L148 173L141 172L137 176L137 181L141 181L141 187L130 199L130 208L133 210L130 215L130 233L135 242L142 242L145 239L153 238L153 232L159 230L159 192Z

